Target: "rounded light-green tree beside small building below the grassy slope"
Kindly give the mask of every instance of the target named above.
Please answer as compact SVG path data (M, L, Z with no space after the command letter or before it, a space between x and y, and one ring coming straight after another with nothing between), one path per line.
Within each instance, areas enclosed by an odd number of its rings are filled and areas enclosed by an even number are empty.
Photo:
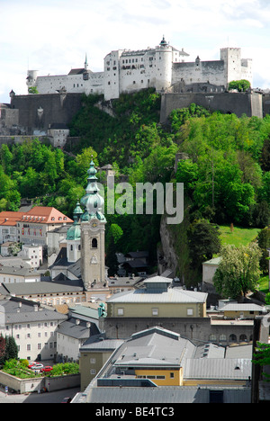
M225 298L246 296L255 291L260 278L261 250L256 243L250 246L223 246L221 261L214 274L214 286Z

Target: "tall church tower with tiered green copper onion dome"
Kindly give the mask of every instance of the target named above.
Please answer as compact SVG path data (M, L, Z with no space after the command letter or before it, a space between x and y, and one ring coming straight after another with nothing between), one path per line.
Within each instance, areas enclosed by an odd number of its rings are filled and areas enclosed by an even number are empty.
M97 283L104 284L105 279L105 224L102 213L103 197L98 193L96 169L93 160L87 171L87 187L81 206L85 212L81 217L81 273L85 290Z

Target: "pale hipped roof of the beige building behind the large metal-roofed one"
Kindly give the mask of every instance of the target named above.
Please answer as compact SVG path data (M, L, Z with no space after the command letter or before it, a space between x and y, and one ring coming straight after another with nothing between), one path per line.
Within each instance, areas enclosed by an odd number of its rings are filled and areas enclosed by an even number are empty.
M167 291L139 289L136 291L124 291L113 295L107 303L116 302L175 302L175 303L197 303L205 302L207 293L196 291L185 291L176 288L169 288Z

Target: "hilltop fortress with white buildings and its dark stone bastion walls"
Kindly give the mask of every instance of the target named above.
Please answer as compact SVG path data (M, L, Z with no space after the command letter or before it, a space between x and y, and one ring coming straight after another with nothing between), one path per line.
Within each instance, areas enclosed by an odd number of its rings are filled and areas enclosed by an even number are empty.
M11 103L0 104L0 145L22 141L24 136L49 137L55 147L67 142L68 124L82 106L82 94L101 94L103 111L112 112L111 101L121 94L154 88L161 94L160 122L166 122L176 108L197 103L211 111L235 113L240 117L264 117L270 112L270 94L249 89L228 91L232 80L253 83L252 59L241 58L241 49L220 49L220 60L188 61L184 49L175 49L163 38L155 48L118 49L107 54L103 71L82 68L67 75L38 76L29 70L26 84L29 94L11 91ZM38 93L38 94L37 94Z

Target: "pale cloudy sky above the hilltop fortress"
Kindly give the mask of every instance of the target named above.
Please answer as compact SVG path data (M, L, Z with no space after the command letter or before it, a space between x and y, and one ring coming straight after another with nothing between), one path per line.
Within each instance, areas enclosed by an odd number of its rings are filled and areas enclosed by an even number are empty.
M253 59L253 87L270 88L270 0L0 0L0 103L27 94L27 70L103 71L113 49L156 47L162 37L194 61L238 47Z

